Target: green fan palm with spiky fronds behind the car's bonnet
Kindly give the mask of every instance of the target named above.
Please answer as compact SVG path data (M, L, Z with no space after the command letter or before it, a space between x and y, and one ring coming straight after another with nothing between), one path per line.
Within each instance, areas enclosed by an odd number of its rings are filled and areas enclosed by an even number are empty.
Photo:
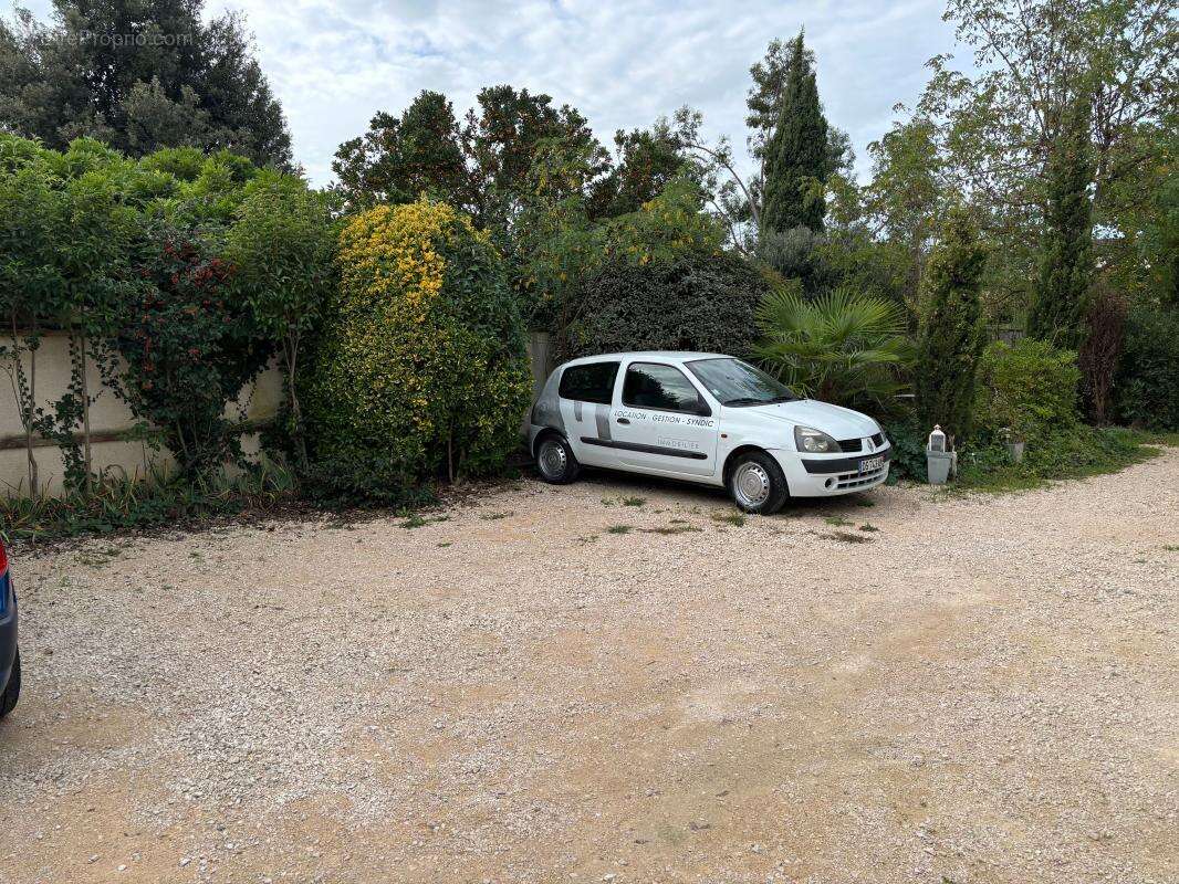
M839 288L817 298L782 285L757 312L763 339L753 352L799 396L891 410L916 355L896 304Z

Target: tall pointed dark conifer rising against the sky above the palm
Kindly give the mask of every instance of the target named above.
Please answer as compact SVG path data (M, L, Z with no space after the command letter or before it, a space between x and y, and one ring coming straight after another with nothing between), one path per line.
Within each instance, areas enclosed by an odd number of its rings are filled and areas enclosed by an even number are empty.
M802 32L791 41L788 67L777 124L765 145L762 230L819 232L826 213L828 125Z

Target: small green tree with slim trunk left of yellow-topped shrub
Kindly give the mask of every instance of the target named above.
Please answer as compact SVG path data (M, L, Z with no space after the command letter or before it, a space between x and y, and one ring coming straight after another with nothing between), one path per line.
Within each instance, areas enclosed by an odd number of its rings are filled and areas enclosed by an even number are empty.
M225 257L236 268L233 286L259 331L282 355L290 409L289 435L307 466L297 372L303 344L320 322L334 282L335 237L322 194L301 178L264 171L245 186Z

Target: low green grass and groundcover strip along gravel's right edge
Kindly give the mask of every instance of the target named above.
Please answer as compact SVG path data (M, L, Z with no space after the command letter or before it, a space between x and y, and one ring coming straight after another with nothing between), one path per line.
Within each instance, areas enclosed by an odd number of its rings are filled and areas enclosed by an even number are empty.
M960 475L953 488L971 492L1022 492L1066 479L1118 473L1157 457L1159 435L1117 427L1075 430L1029 444L1021 463L1012 463L1002 447L966 450L959 455Z

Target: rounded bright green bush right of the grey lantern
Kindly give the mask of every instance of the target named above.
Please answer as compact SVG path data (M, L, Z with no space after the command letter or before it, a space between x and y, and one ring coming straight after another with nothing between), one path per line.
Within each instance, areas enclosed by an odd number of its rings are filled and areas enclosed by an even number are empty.
M989 344L979 361L977 433L997 437L1009 430L1015 440L1033 447L1068 434L1080 421L1080 380L1072 350L1034 338Z

